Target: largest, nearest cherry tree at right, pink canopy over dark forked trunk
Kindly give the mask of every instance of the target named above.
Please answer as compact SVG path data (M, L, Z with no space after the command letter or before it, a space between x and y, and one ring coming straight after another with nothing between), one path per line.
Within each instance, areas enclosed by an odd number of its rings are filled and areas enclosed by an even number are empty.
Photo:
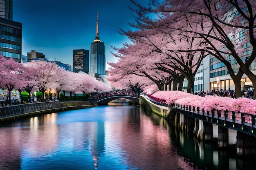
M198 50L207 51L225 64L235 83L238 97L241 96L240 79L243 73L251 79L255 88L256 76L249 69L256 56L255 1L165 0L155 8L142 7L139 4L137 6L140 8L137 10L137 28L157 28L166 34L177 29L184 34L190 33L193 38L203 39L204 44ZM162 26L158 21L149 18L148 13L156 13ZM251 52L241 59L240 54L247 51ZM231 64L233 61L238 64L237 73Z

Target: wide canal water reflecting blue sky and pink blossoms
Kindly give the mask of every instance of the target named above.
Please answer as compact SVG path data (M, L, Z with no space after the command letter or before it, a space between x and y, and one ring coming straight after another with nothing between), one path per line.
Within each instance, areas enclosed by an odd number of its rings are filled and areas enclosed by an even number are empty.
M0 170L254 169L139 106L99 106L0 124Z

